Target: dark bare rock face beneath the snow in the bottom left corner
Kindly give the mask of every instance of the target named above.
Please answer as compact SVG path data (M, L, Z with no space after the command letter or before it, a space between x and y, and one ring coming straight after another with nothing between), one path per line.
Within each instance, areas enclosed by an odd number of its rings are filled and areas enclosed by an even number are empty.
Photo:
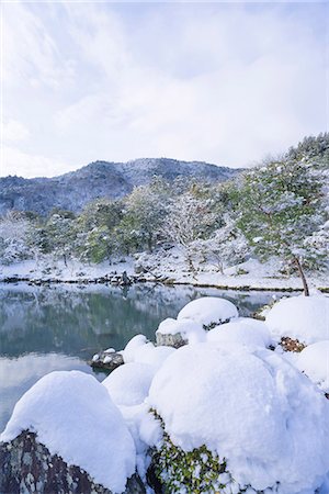
M92 454L93 451L90 451ZM0 442L0 493L20 494L114 494L97 484L88 472L69 465L24 430L10 442ZM137 474L131 476L125 494L145 494Z

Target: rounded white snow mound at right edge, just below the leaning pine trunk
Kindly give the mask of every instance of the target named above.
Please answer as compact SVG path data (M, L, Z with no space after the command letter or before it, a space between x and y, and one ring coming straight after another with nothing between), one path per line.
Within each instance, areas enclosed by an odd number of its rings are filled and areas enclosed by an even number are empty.
M273 337L287 336L310 345L329 339L329 297L325 295L282 299L266 315Z

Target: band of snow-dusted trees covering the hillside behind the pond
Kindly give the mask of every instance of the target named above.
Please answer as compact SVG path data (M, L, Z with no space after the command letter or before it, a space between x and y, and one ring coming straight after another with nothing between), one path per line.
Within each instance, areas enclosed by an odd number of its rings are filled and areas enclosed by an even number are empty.
M327 133L225 182L202 180L204 165L188 181L161 172L123 198L98 198L77 214L10 211L0 223L1 262L50 255L98 263L136 252L161 257L179 248L192 272L204 265L223 272L251 257L274 256L282 271L299 273L307 291L305 270L320 271L328 262L328 162ZM141 182L144 171L141 164Z

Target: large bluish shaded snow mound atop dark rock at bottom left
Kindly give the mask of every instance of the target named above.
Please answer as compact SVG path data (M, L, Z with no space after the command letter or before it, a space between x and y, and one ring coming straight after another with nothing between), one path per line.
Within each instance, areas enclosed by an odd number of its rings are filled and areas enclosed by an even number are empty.
M57 371L42 378L16 403L0 436L36 433L52 454L86 470L113 493L135 472L136 451L124 419L105 388L92 375Z

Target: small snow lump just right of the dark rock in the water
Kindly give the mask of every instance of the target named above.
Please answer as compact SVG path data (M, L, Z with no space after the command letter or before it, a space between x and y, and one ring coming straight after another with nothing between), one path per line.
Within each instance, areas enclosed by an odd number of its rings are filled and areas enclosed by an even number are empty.
M173 351L171 347L155 347L144 335L136 335L127 343L122 355L125 363L140 362L158 369Z

